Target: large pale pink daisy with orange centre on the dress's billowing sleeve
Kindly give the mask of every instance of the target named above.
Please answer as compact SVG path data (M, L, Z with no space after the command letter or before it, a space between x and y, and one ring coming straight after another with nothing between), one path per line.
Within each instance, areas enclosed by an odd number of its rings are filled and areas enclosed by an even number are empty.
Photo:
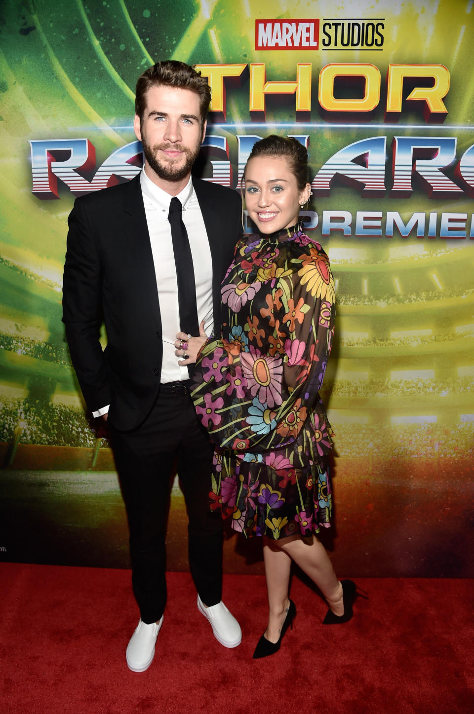
M279 356L262 355L254 348L240 355L242 371L250 394L272 408L282 403L283 361Z

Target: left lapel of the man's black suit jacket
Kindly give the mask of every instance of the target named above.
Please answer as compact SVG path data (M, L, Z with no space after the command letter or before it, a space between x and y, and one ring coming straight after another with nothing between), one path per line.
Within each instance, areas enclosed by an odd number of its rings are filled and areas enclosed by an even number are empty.
M142 288L145 292L147 305L155 316L158 326L161 325L158 286L156 284L155 264L148 233L148 223L143 205L140 174L130 181L130 191L123 202L124 231L130 241L133 241L133 261L138 265Z

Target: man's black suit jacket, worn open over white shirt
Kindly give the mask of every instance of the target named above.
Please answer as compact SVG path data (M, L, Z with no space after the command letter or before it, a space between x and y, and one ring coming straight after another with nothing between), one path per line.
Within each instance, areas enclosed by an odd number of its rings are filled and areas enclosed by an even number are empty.
M212 255L215 334L220 283L242 233L242 201L230 188L193 178ZM110 404L120 431L140 425L160 385L163 342L155 267L140 188L128 183L77 198L68 218L63 323L88 408ZM105 321L108 345L98 341Z

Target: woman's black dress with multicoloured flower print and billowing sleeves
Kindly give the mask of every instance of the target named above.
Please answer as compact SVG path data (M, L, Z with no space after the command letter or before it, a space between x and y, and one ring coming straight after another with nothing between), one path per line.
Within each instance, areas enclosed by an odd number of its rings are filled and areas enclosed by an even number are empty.
M334 281L299 229L244 236L222 283L222 339L197 358L192 399L215 443L211 508L244 535L329 526L331 427L319 398Z

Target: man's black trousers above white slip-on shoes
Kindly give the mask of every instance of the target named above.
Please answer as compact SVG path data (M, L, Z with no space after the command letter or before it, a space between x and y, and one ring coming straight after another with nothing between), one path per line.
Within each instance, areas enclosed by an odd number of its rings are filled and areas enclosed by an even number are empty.
M209 507L213 448L189 391L164 386L145 423L130 432L110 425L110 438L130 529L133 592L143 622L156 622L165 609L165 535L175 465L189 521L192 579L202 602L216 605L222 598L222 521Z

